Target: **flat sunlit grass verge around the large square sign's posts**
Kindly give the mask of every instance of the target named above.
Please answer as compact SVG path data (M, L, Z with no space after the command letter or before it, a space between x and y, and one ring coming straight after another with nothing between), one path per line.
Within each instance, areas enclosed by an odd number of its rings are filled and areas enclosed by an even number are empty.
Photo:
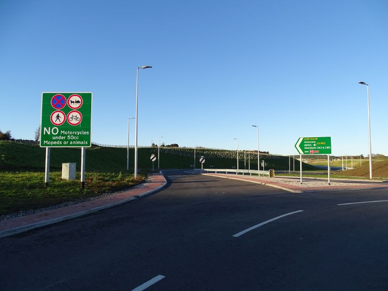
M80 173L76 180L62 180L61 172L50 173L49 187L44 185L44 173L0 172L0 215L30 210L95 197L115 192L145 181L144 174L85 173L85 188L80 185Z

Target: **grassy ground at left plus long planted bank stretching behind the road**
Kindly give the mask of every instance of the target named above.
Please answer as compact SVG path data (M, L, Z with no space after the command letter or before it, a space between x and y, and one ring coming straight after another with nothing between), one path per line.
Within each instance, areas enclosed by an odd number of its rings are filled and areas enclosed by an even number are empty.
M190 168L194 163L194 150L182 149L180 155L161 149L161 168ZM64 201L97 196L101 193L129 188L143 182L152 170L149 157L157 155L157 148L139 148L140 175L133 178L134 150L130 149L127 171L127 149L113 147L86 148L85 189L80 188L81 150L79 148L51 148L50 183L44 186L45 148L0 141L0 214L18 210L37 209ZM182 153L185 156L182 156ZM226 153L226 154L225 154ZM206 157L204 167L231 168L235 158L217 158L217 152L197 149L196 157ZM232 157L235 152L224 151ZM221 155L221 156L223 156ZM240 153L240 168L244 168L244 155ZM260 156L267 163L266 169L288 169L288 157ZM62 180L63 162L77 163L77 179ZM197 161L196 166L200 167ZM299 162L295 162L299 166ZM305 167L305 165L304 165ZM306 167L313 169L306 164ZM248 168L248 160L246 160ZM251 160L251 168L257 169L257 160ZM155 170L157 162L155 162Z

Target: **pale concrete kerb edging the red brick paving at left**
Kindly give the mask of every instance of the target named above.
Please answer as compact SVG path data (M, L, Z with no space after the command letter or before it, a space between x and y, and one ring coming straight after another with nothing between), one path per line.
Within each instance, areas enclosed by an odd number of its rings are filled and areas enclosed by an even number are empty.
M162 174L162 171L161 171L161 174ZM162 189L167 184L167 181L166 181L166 179L164 178L163 175L162 175L162 177L164 179L164 183L161 186L159 186L158 188L152 189L150 191L147 191L147 192L145 192L143 194L132 196L132 197L129 197L129 198L126 198L126 199L123 199L123 200L120 200L120 201L116 201L116 202L113 202L113 203L110 203L110 204L107 204L107 205L99 206L99 207L96 207L96 208L93 208L93 209L88 209L88 210L83 210L83 211L79 211L79 212L76 212L76 213L68 214L68 215L65 215L65 216L62 216L62 217L57 217L57 218L53 218L53 219L44 220L44 221L40 221L40 222L37 222L37 223L29 224L29 225L24 225L24 226L19 226L19 227L14 227L14 228L6 229L6 230L3 230L3 231L0 231L0 238L6 237L6 236L10 236L10 235L14 235L14 234L18 234L18 233L25 232L25 231L28 231L28 230L32 230L32 229L35 229L35 228L38 228L38 227L42 227L42 226L47 226L47 225L50 225L50 224L58 223L58 222L61 222L61 221L73 219L73 218L76 218L76 217L79 217L79 216L83 216L83 215L86 215L86 214L89 214L89 213L97 212L99 210L111 208L111 207L114 207L116 205L124 204L126 202L135 200L138 197L142 197L142 196L154 193L154 192ZM145 185L145 184L146 183L144 183L142 185Z

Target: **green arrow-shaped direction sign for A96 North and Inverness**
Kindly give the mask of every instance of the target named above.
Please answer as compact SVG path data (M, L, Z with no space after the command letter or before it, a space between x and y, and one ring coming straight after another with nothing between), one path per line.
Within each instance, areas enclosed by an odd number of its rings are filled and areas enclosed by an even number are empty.
M295 148L301 155L331 154L331 137L300 137Z

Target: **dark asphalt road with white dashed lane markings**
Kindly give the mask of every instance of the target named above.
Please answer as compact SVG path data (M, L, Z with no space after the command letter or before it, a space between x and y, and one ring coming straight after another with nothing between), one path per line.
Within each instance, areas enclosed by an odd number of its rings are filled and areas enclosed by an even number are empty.
M388 289L388 202L337 205L387 190L165 174L156 194L0 239L0 290Z

